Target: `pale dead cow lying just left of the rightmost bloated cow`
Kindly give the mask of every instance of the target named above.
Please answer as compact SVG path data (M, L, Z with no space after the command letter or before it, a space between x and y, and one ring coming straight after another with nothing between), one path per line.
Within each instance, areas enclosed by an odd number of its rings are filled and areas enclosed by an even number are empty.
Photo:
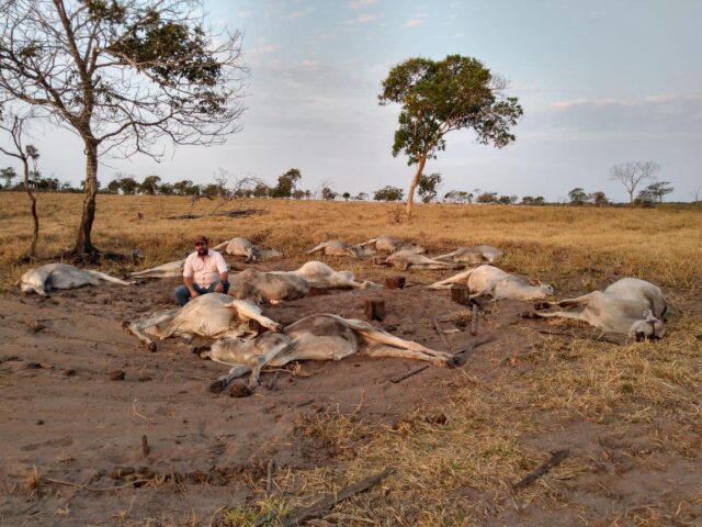
M551 296L553 288L541 282L530 283L492 266L479 266L429 285L450 289L453 283L467 285L471 298L491 296L494 300L540 300Z

